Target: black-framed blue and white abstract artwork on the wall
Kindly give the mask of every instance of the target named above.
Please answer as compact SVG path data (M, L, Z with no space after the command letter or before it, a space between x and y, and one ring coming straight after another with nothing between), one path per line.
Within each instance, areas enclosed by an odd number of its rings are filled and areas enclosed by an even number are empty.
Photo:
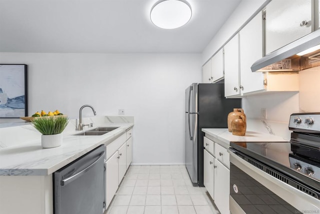
M0 118L27 114L27 65L0 64Z

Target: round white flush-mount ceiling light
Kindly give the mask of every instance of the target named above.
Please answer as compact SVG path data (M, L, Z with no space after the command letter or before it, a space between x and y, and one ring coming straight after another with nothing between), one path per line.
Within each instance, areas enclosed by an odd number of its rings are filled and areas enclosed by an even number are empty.
M157 2L151 9L151 22L163 29L179 28L189 22L192 15L187 2L164 0Z

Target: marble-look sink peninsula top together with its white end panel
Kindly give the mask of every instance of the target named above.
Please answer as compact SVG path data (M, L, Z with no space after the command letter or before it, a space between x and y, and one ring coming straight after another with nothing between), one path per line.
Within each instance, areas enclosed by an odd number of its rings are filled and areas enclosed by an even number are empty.
M86 129L118 128L100 136L78 136L74 134L81 131L70 120L62 145L49 149L41 148L41 134L29 124L0 128L0 213L52 214L52 173L101 144L123 139L133 117L95 116L83 122L93 123Z

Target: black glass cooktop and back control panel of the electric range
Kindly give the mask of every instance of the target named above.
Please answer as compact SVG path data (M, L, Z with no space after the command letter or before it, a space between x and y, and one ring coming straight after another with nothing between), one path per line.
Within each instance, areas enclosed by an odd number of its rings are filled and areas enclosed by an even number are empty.
M320 113L290 115L289 142L230 142L230 150L320 200Z

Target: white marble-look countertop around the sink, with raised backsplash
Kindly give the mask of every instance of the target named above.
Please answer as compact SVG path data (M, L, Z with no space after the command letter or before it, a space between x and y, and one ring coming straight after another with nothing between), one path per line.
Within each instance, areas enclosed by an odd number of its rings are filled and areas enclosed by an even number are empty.
M107 145L133 126L133 117L95 116L83 123L119 127L100 136L76 136L75 120L70 120L63 133L61 146L41 147L41 134L31 125L0 128L0 176L49 175L101 144Z

